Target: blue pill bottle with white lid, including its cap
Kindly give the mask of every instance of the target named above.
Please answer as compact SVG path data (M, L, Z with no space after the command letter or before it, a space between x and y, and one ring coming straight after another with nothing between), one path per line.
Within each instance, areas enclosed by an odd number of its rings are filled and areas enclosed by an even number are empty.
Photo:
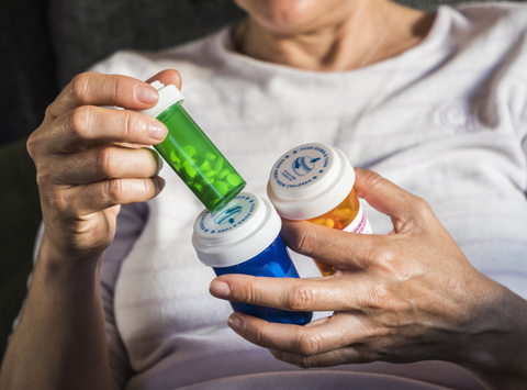
M296 268L280 238L282 222L272 204L242 192L217 212L204 210L195 220L192 245L199 259L216 276L244 274L256 277L298 278ZM304 325L311 312L293 312L231 302L234 311L269 322Z

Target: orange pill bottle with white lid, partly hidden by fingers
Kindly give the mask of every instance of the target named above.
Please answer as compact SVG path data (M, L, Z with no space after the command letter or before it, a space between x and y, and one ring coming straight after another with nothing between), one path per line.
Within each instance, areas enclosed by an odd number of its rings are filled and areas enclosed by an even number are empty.
M355 170L346 155L327 145L298 146L273 165L267 193L280 216L345 232L372 230L354 189ZM334 267L315 259L322 275Z

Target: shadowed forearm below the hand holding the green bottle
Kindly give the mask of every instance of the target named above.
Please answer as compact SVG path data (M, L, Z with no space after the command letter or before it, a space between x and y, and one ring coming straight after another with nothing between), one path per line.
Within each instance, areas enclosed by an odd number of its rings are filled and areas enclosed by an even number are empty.
M75 263L43 242L0 374L7 389L110 389L100 259Z

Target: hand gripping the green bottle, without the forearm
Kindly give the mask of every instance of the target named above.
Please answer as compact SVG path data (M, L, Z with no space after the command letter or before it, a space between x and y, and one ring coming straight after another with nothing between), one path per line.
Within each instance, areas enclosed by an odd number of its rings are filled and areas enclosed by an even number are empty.
M175 70L152 78L157 79L181 85ZM47 108L30 136L27 151L37 169L45 224L42 249L52 257L99 258L113 239L120 204L146 201L162 189L160 159L146 146L160 143L167 130L131 111L157 102L158 93L147 82L81 74Z

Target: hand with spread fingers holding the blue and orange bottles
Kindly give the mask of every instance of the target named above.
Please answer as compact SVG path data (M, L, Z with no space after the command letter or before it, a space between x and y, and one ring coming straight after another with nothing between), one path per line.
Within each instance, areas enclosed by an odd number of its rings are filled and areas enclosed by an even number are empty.
M335 275L225 275L211 285L217 298L292 311L334 311L333 316L302 327L234 313L229 326L300 367L436 359L475 371L485 367L486 372L515 367L515 375L526 375L525 364L516 360L525 361L525 301L478 272L424 200L377 174L356 171L357 193L391 218L390 234L358 235L283 221L288 246L335 266Z

